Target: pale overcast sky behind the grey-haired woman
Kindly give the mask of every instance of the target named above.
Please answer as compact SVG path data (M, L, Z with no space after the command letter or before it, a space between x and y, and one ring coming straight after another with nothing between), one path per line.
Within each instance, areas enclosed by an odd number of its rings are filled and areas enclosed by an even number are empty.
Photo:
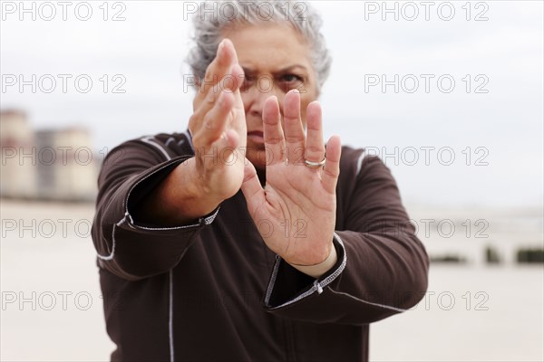
M542 2L423 3L387 2L398 20L381 1L313 3L334 57L325 136L379 154L409 203L542 207ZM2 109L27 111L36 129L87 127L97 150L186 129L194 2L71 2L65 21L57 2L25 4L1 3ZM41 86L21 91L33 74ZM383 89L395 75L398 93Z

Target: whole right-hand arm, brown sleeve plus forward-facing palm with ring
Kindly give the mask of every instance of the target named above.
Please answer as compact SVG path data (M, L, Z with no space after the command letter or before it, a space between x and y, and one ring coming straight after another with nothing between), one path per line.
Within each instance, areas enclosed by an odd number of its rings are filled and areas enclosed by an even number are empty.
M325 153L317 102L307 107L305 135L299 102L296 91L287 93L282 126L277 100L267 100L267 185L258 184L251 165L242 184L256 224L266 219L274 226L261 233L278 255L265 307L287 318L346 324L370 323L411 307L423 297L428 262L393 176L379 159L367 158L351 176L343 167L337 186L340 163L353 154L341 157L337 137L329 139ZM323 169L304 161L324 157ZM351 168L359 168L355 159ZM284 232L283 225L293 222L305 225L304 235ZM328 268L331 248L336 261Z

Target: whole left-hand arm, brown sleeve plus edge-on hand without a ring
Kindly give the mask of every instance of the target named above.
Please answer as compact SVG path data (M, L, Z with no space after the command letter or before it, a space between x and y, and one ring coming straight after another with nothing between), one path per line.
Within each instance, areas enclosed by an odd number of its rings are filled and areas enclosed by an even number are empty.
M234 47L224 40L194 100L186 139L192 149L176 157L156 139L141 138L106 158L92 225L102 268L128 280L170 270L219 204L238 192L247 137L241 82L233 81L240 78ZM220 91L214 81L222 81Z

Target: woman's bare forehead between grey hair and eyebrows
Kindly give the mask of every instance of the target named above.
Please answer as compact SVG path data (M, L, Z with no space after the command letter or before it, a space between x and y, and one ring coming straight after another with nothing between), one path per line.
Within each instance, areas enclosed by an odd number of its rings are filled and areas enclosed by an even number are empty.
M223 32L234 44L238 62L255 71L276 71L294 64L313 69L310 46L289 24L244 24Z

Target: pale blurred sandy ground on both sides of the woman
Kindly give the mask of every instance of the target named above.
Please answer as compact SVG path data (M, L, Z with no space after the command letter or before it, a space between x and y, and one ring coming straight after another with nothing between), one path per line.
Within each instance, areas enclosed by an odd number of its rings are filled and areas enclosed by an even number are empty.
M114 346L89 236L92 205L2 200L0 211L0 359L108 360ZM430 252L463 252L469 263L433 264L425 299L371 327L371 359L542 361L544 268L516 266L512 253L542 244L541 213L413 207L411 215L418 224L434 220L429 237L424 228L419 233ZM475 237L481 219L488 227L478 236L487 237ZM456 232L437 229L442 220L452 220ZM504 264L483 264L481 249L490 244Z

